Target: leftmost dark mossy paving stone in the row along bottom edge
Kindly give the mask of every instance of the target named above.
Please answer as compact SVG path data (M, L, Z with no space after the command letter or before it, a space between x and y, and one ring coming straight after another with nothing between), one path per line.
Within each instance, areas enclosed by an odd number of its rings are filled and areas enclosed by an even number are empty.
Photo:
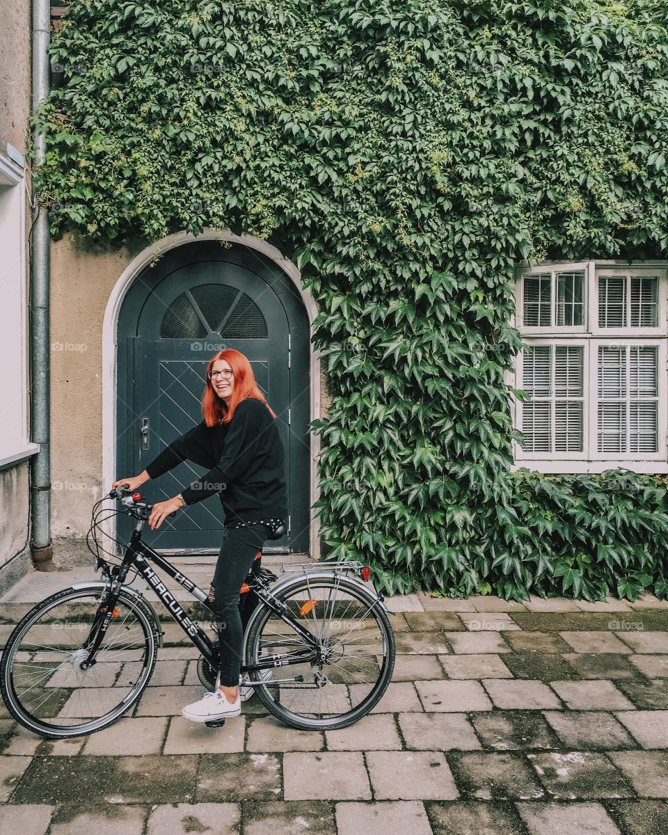
M317 801L247 802L244 835L331 835L336 832L331 804ZM149 833L150 835L150 833Z

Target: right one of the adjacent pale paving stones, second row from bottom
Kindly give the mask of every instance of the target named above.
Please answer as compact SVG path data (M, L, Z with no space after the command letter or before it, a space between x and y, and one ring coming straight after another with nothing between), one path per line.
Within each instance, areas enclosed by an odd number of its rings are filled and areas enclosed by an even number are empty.
M368 751L376 800L454 800L459 792L441 751Z

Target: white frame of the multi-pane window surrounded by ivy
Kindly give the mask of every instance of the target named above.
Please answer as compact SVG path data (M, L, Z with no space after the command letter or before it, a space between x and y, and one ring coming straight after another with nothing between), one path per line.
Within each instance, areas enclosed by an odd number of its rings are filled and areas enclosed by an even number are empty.
M552 304L557 272L585 270L583 326L524 326L524 282L528 274L550 271ZM657 326L599 327L599 276L619 273L625 276L659 276L657 292ZM668 473L668 263L666 261L547 261L539 265L519 267L515 272L517 305L511 322L522 335L524 345L582 345L584 352L583 385L583 451L581 453L529 453L519 442L513 442L514 468L529 466L543 473L600 473L611 468L627 468L637 473ZM630 311L627 315L630 315ZM551 314L551 319L553 314ZM554 321L554 319L553 319ZM658 449L656 453L598 452L598 351L601 345L658 347ZM515 371L506 382L521 388L523 352L515 360ZM523 403L512 397L514 426L522 429Z

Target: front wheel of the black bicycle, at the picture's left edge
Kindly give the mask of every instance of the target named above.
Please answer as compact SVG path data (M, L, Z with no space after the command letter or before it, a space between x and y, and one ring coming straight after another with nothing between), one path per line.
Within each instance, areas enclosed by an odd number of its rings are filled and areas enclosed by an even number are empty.
M102 622L100 589L65 589L30 610L0 661L10 713L39 736L65 739L100 731L139 699L157 652L152 618L121 590L94 664L86 648Z

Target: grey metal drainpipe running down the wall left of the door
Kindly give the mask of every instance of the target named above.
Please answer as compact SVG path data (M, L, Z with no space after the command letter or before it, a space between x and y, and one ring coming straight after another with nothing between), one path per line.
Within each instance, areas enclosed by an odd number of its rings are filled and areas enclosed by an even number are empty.
M33 0L33 116L48 94L49 0ZM33 170L43 163L44 134L33 131ZM48 212L39 206L32 185L33 231L30 242L30 438L39 452L30 463L30 499L33 563L39 571L53 571L51 542L51 461L49 447L50 355L49 355L49 223Z

